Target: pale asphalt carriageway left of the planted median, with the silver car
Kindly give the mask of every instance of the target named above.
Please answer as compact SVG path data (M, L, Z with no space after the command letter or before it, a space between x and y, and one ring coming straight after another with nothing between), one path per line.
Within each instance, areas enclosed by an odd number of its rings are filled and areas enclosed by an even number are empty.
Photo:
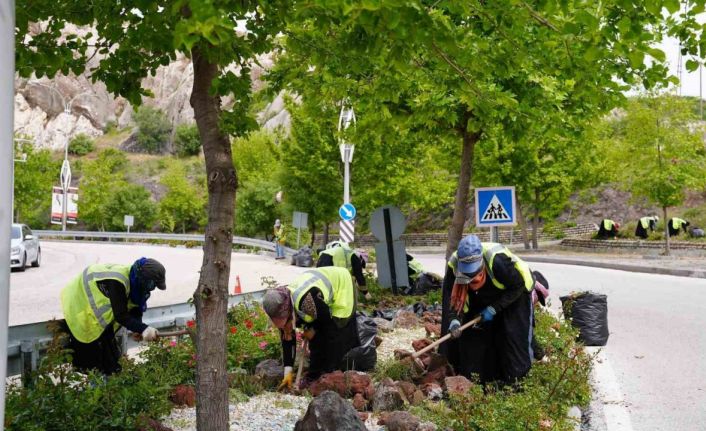
M62 318L61 289L86 266L128 264L142 256L159 260L167 270L167 290L152 292L148 305L186 302L196 289L203 260L203 251L198 248L50 241L42 241L41 246L42 266L10 275L10 325ZM234 253L228 286L232 292L239 275L242 291L250 292L263 288L261 277L272 276L287 283L303 270L271 256Z

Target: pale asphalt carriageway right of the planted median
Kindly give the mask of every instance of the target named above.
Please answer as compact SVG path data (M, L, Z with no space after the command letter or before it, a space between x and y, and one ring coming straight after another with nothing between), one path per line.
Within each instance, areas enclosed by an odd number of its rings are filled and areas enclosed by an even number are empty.
M442 256L418 258L427 270L442 273ZM531 266L547 277L556 310L559 297L572 291L608 295L610 339L595 367L600 381L588 429L706 429L706 280Z

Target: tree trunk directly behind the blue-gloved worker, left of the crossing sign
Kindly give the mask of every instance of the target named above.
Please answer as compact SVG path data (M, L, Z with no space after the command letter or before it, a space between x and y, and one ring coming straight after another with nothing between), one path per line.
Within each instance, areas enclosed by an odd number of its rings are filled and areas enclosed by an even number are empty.
M469 114L470 115L470 114ZM466 214L470 206L469 189L471 186L471 175L473 172L473 149L480 138L480 132L470 133L467 129L468 116L463 119L461 129L463 137L463 150L461 152L461 171L458 176L458 186L456 188L456 200L454 202L454 213L449 226L448 242L446 244L446 258L453 254L458 248L458 243L463 236L463 226L466 224Z

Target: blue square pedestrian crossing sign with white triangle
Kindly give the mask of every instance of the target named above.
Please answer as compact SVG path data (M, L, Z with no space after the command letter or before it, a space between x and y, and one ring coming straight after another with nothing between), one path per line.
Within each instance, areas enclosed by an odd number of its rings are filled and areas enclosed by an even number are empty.
M476 226L515 226L515 187L476 188Z

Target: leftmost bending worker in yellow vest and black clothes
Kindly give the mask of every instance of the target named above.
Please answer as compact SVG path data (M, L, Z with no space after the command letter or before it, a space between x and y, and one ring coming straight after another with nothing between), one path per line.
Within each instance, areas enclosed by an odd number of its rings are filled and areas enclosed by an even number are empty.
M142 323L147 299L157 288L165 290L164 266L140 258L132 265L94 264L61 291L61 306L70 333L73 365L110 375L120 371L115 332L120 326L154 341L159 333Z

